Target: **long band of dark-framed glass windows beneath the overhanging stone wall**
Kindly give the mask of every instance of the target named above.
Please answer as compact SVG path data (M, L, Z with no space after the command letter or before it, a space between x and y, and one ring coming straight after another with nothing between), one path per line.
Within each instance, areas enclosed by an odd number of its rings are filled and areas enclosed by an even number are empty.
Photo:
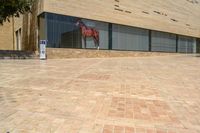
M108 49L110 46L110 49L114 50L149 51L150 41L152 51L178 50L181 53L193 53L199 48L196 46L196 40L191 37L176 38L175 34L152 31L149 38L149 30L119 24L110 24L109 32L109 24L106 22L53 13L43 13L39 16L39 39L47 39L47 47L51 48L85 48L86 42L86 48L96 49L92 37L86 37L84 41L80 25L77 25L78 21L81 21L86 29L98 31L100 49Z

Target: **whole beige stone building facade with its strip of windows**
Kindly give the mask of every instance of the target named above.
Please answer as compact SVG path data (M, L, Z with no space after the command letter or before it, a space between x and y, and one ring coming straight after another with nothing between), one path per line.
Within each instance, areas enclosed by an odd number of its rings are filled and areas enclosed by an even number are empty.
M10 49L37 50L43 39L48 48L96 49L96 43L123 51L200 48L200 0L38 0L21 22L21 29L10 31L15 42Z

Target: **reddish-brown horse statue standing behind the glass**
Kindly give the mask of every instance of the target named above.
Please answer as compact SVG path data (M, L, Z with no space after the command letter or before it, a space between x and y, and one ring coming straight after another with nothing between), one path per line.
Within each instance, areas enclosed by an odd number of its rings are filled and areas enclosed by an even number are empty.
M80 26L82 37L84 39L84 46L86 48L86 38L92 37L95 43L95 47L99 50L99 32L94 29L87 27L81 20L78 20L76 26Z

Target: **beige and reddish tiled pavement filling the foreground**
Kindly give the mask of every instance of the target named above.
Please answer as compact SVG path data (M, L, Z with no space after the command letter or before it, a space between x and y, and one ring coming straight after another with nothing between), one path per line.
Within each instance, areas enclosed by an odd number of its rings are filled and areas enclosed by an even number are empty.
M0 60L0 133L200 133L200 58Z

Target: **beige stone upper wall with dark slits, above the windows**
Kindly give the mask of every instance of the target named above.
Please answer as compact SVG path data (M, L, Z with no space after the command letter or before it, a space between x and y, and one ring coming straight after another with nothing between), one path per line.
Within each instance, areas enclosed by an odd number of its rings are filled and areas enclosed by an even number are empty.
M118 1L118 2L117 2ZM44 11L200 37L200 0L44 0ZM117 10L115 10L117 9Z

